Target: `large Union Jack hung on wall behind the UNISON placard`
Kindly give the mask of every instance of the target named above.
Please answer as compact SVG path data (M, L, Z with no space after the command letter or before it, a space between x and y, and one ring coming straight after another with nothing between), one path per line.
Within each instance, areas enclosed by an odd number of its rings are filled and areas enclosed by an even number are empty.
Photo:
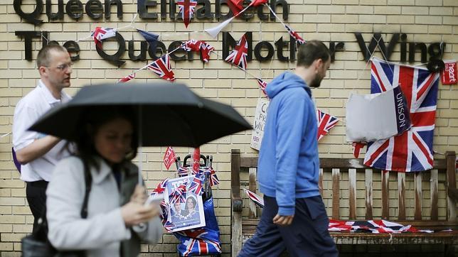
M400 172L432 168L438 80L437 72L372 60L371 93L399 85L407 99L412 127L399 136L368 143L365 165Z

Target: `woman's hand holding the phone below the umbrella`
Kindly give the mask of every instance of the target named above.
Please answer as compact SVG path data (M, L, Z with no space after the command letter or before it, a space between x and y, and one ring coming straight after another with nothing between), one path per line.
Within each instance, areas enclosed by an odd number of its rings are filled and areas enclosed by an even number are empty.
M126 226L134 226L159 215L159 206L156 204L139 204L138 202L128 202L121 207L121 216Z

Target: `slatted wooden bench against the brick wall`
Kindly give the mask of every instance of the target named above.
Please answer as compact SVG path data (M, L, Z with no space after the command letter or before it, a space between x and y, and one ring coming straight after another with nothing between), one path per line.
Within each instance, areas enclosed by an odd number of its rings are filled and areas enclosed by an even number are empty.
M432 170L395 173L365 167L361 159L320 158L319 188L331 219L386 219L437 231L432 234L332 232L336 244L443 244L447 256L454 256L453 247L447 250L447 246L458 244L457 231L440 230L458 229L455 161L455 153L447 152L446 158L435 160ZM247 174L243 173L246 171ZM232 256L237 256L243 243L255 233L259 220L261 209L242 192L243 187L257 192L256 173L257 157L243 157L240 150L233 149Z

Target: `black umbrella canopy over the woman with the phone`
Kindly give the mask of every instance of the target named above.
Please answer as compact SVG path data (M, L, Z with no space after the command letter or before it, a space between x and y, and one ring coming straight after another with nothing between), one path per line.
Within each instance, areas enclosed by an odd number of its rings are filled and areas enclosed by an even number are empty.
M184 84L161 82L83 87L70 102L48 111L30 129L73 141L81 129L78 117L105 106L133 109L142 146L198 147L252 128L233 107L198 97Z

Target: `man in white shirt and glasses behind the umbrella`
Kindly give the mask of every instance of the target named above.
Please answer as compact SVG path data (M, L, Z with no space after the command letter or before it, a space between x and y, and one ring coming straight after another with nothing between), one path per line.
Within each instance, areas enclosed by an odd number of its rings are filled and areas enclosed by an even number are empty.
M28 131L49 109L70 97L62 91L70 87L73 63L63 46L46 45L38 52L36 59L41 80L35 89L23 97L14 110L13 148L21 163L21 180L26 182L26 196L34 217L36 229L46 204L46 187L55 163L68 155L65 141L35 131Z

